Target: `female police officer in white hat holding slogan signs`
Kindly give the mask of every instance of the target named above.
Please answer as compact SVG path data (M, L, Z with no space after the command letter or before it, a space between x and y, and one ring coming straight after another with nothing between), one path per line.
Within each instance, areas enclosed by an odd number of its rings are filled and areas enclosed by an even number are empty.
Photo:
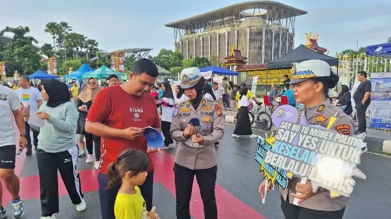
M295 65L291 84L297 103L304 104L302 111L308 124L327 126L330 116L338 119L332 129L345 135L354 135L354 124L338 106L326 99L329 88L334 88L339 77L333 74L330 65L321 60L308 60ZM270 189L270 184L268 185ZM259 186L263 197L265 183ZM281 190L281 209L286 219L341 219L344 215L347 197L330 198L330 192L319 188L312 192L311 181L300 184L293 177L288 188ZM301 193L297 195L296 192ZM293 204L298 198L298 206Z

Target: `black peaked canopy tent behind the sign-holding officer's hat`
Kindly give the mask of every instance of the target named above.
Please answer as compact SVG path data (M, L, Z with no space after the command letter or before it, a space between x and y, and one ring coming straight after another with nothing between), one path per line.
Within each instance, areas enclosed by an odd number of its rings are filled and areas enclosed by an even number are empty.
M268 62L266 66L268 68L290 68L293 66L293 62L303 62L306 60L323 60L330 66L338 66L339 63L338 59L318 53L301 44L285 56Z

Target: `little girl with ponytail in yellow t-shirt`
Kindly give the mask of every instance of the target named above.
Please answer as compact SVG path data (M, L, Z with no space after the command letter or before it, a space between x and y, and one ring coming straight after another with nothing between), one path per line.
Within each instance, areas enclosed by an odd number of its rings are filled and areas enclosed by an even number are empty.
M143 185L149 168L148 156L141 151L128 149L110 164L108 169L109 186L114 181L122 180L114 205L116 219L158 219L155 212L148 212L147 205L141 195L139 185Z

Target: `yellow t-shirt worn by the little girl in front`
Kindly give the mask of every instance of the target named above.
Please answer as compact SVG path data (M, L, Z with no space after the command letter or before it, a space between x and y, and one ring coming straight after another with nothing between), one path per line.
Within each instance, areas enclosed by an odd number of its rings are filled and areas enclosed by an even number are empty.
M140 189L136 186L136 194L117 194L114 204L114 215L116 219L147 219L147 204Z

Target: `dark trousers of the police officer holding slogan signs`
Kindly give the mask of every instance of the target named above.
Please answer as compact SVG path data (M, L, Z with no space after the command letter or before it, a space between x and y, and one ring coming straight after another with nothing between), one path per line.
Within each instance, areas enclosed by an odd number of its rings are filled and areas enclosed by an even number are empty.
M342 219L345 208L337 211L319 211L303 208L290 204L289 195L287 201L281 195L281 210L285 219Z

